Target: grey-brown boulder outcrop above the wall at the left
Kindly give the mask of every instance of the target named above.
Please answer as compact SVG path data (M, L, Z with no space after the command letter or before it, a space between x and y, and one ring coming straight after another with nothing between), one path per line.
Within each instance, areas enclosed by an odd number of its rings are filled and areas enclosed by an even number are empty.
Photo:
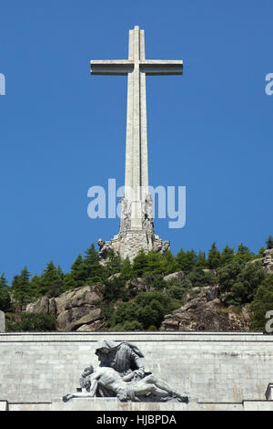
M68 290L58 298L39 298L28 304L26 311L55 316L58 330L96 330L104 323L99 307L102 300L100 285L84 286Z

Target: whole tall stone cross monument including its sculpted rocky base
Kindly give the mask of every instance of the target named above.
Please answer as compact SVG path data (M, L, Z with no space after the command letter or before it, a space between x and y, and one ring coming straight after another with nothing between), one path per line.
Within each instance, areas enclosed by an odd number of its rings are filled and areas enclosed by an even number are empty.
M145 58L144 30L129 30L128 59L92 60L91 74L127 76L125 194L121 198L118 235L98 240L100 255L113 248L132 260L141 249L164 253L169 241L154 232L152 196L148 189L146 76L182 75L182 60Z

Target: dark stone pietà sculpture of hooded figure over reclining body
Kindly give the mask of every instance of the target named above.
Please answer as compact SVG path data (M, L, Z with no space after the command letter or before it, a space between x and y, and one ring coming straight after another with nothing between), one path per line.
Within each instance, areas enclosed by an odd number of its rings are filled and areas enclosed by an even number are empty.
M116 397L122 402L167 402L188 403L187 393L180 393L164 380L145 370L143 353L130 342L116 343L99 340L96 356L100 362L94 369L86 367L80 378L80 389L63 397L67 402L73 398Z

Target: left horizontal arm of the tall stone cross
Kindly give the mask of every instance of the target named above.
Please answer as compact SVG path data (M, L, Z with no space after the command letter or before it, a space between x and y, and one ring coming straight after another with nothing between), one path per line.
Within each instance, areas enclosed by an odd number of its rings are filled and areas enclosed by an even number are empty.
M127 59L93 60L90 63L91 75L126 76L134 69L134 61Z

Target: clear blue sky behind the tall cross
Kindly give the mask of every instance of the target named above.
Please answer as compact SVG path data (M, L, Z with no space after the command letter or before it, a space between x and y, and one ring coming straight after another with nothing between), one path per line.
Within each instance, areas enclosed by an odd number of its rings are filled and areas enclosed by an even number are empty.
M124 183L126 78L91 77L91 59L183 59L183 77L147 78L150 183L187 186L187 224L156 233L207 251L257 252L272 228L270 0L2 0L0 273L53 259L67 272L118 219L91 220L87 190Z

